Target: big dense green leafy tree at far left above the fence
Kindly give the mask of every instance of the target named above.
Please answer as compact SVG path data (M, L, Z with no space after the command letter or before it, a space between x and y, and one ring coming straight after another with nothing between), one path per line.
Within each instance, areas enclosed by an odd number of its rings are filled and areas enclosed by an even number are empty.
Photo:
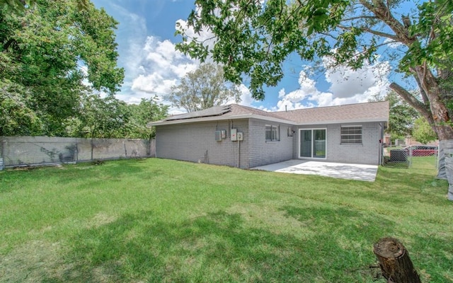
M0 6L0 135L64 135L81 94L119 89L117 22L91 2L35 0L11 13ZM89 86L86 86L86 82ZM21 109L15 113L14 109Z

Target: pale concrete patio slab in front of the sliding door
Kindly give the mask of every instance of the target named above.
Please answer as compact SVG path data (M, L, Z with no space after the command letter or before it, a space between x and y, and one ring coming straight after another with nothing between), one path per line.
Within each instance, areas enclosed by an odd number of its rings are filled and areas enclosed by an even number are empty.
M281 173L321 175L326 177L374 182L376 165L332 163L292 159L280 163L251 168L252 170L274 171Z

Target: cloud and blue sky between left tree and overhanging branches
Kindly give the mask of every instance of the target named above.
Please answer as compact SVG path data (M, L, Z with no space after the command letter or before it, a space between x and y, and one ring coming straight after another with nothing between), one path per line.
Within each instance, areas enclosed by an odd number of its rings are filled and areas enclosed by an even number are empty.
M164 1L159 2L160 8ZM125 69L125 79L115 96L127 103L139 103L142 98L157 95L159 102L164 103L162 96L188 71L195 70L198 62L177 51L170 40L149 36L147 19L125 5L100 0L98 6L108 8L120 21L115 33L119 42L118 65Z

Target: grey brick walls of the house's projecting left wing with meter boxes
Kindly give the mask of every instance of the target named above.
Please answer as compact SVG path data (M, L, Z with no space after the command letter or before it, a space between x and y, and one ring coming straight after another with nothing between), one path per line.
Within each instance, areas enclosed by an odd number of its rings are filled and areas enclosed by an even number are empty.
M265 141L265 125L260 120L232 120L219 122L166 125L156 128L156 156L192 162L252 168L292 158L294 137L287 137L289 125L280 125L280 141ZM279 125L279 124L273 124ZM230 129L243 132L243 141L229 139ZM226 130L227 138L215 141L216 130Z

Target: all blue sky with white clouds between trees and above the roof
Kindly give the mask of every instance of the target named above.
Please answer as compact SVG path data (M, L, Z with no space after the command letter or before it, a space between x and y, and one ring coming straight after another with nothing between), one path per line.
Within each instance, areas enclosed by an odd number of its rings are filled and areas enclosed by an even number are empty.
M174 49L176 21L184 24L194 8L193 0L91 0L105 8L120 24L116 30L118 64L125 68L125 81L117 98L139 103L141 98L162 96L176 85L197 62ZM366 102L388 91L387 62L358 71L340 68L307 77L302 62L294 56L284 64L285 77L274 88L265 88L265 100L252 100L241 86L241 104L263 110L292 110L316 106ZM181 112L171 108L171 113Z

